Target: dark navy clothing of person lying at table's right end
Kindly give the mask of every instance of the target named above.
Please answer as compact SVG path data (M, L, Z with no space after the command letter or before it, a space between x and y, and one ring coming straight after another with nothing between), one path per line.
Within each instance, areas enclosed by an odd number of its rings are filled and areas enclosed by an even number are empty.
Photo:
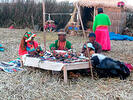
M130 71L124 63L109 57L105 57L101 60L98 55L96 55L91 58L91 62L100 78L120 77L120 79L124 80L130 75Z

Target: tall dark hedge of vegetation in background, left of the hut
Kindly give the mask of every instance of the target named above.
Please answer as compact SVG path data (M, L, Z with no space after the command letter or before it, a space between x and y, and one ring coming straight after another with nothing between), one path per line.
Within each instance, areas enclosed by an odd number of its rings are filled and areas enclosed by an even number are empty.
M72 13L73 6L69 2L57 3L56 0L45 0L46 13ZM70 19L70 15L51 15L57 28L63 28ZM46 14L46 20L49 15ZM13 3L0 3L0 27L33 28L34 25L43 26L42 3L34 0L18 0Z

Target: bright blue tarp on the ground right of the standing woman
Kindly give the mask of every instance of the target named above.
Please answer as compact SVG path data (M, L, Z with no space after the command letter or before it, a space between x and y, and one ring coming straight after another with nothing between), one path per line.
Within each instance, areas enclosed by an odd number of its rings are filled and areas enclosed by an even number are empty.
M109 32L110 40L129 40L133 41L133 37L128 35L115 34L114 32Z

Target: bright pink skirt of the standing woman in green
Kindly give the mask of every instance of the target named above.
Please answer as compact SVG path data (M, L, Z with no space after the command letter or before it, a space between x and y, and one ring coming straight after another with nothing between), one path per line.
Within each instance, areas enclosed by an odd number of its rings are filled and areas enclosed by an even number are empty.
M111 50L108 26L98 26L95 31L96 41L101 44L102 50Z

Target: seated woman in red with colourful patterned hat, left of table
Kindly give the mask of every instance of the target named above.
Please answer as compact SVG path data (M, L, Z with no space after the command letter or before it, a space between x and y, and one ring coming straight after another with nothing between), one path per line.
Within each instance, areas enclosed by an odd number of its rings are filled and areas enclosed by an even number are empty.
M19 45L19 56L22 57L25 54L37 55L38 43L34 41L36 34L32 32L26 32ZM42 50L41 50L42 51ZM40 54L39 54L40 55Z

